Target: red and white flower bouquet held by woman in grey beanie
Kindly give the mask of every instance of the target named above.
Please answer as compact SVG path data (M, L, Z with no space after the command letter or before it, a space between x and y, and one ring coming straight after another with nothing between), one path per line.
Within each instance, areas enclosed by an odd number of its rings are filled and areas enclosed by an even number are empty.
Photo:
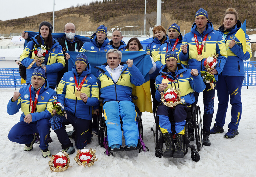
M27 67L28 69L32 67L34 63L36 63L36 60L40 60L40 66L42 63L44 63L44 56L48 54L49 47L44 46L42 44L35 44L34 49L32 50L35 54L34 61Z

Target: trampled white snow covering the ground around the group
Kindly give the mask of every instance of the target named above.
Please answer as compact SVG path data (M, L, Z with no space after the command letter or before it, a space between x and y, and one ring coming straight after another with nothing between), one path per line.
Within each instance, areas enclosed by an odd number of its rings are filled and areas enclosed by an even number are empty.
M2 118L0 123L0 174L2 176L255 176L256 174L256 153L253 150L256 144L255 128L255 107L256 107L256 86L249 89L242 87L243 113L239 125L239 135L233 139L224 138L230 121L231 107L227 111L227 120L224 126L224 133L210 135L211 146L203 146L200 154L200 161L191 160L189 150L183 159L158 158L155 157L155 145L153 132L150 127L153 125L153 114L142 113L144 142L149 152L122 151L114 152L114 156L103 155L105 149L98 145L98 139L93 136L91 144L87 148L96 149L98 161L91 167L79 166L75 161L75 153L70 155L70 165L64 172L52 172L48 166L50 158L43 158L38 144L34 144L30 152L23 151L24 145L8 140L7 135L13 125L19 121L21 111L15 115L8 115L6 105L13 96L13 88L0 88L2 106ZM215 114L217 110L217 94L215 95ZM198 104L203 113L202 94ZM212 126L214 124L212 121ZM71 131L72 126L67 126ZM57 154L61 145L54 131L51 131L53 142L49 143L49 150ZM72 140L73 141L73 140ZM73 141L74 143L74 141ZM123 142L124 145L124 142Z

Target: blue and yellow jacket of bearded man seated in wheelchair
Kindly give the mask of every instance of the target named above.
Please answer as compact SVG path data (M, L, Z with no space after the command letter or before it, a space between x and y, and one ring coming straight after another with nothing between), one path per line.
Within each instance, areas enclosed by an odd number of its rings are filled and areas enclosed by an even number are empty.
M193 104L195 100L195 96L193 94L193 90L196 92L202 92L205 90L205 84L203 82L203 79L200 74L198 76L192 76L191 70L186 69L183 65L178 63L177 70L175 71L175 76L173 76L171 73L167 72L167 66L164 65L162 69L160 70L160 75L157 76L155 79L156 85L155 85L155 98L158 102L161 102L161 94L158 90L159 84L162 83L162 80L164 79L162 75L167 76L167 78L170 78L173 80L173 82L169 81L168 87L164 89L164 92L171 87L179 88L179 91L181 92L181 99L185 99L185 103Z

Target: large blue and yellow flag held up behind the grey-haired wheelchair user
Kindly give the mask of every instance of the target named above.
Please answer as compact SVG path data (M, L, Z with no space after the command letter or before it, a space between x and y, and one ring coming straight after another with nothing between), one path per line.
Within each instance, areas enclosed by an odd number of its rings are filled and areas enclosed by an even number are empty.
M69 71L72 70L75 64L75 57L82 52L69 52L70 59L68 60ZM97 69L94 66L100 66L106 63L106 53L107 52L83 52L88 57L88 61L91 65L92 74L96 76ZM153 112L152 102L150 94L150 84L149 84L149 70L153 67L150 56L146 55L146 51L122 51L122 62L128 59L132 59L135 66L140 70L141 74L145 78L145 83L141 86L134 86L132 94L138 96L134 103L138 106L141 112Z

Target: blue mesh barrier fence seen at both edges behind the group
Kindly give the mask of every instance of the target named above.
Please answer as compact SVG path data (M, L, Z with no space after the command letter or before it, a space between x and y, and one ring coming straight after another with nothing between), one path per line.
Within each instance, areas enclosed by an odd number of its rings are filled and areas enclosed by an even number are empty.
M244 82L243 86L256 85L256 61L244 61ZM0 88L20 88L21 77L18 68L0 69Z

